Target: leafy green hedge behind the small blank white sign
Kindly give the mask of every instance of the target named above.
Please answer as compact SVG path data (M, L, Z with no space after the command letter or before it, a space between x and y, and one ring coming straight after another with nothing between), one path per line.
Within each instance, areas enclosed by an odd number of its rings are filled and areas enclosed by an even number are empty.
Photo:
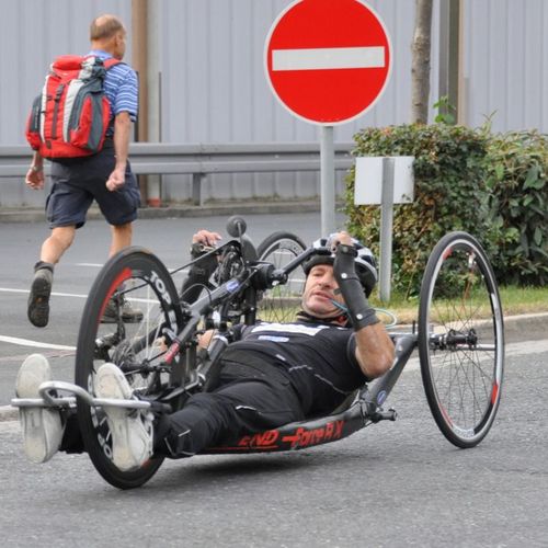
M452 230L476 236L503 281L546 284L548 169L538 158L546 153L545 138L493 137L487 128L434 124L366 128L355 141L354 156L415 157L414 202L395 206L392 288L418 295L433 246ZM349 230L378 254L379 207L354 206L354 176L352 169Z

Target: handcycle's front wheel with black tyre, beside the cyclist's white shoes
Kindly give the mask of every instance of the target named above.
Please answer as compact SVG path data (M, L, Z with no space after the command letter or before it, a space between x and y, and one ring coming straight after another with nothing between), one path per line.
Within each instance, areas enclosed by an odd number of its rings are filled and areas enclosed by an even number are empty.
M117 320L102 322L111 297L119 299L121 294L126 302L142 307L142 318L123 321L124 308L118 302ZM83 309L76 353L76 384L93 393L94 374L109 361L124 370L132 387L140 393L148 396L153 387L158 389L161 377L168 375L153 372L165 354L160 331L169 328L176 332L182 324L178 304L179 296L169 272L147 250L127 248L109 260L95 278ZM162 464L160 458L147 461L135 471L121 471L112 461L112 439L104 411L80 400L77 408L85 449L109 483L133 489L156 473Z

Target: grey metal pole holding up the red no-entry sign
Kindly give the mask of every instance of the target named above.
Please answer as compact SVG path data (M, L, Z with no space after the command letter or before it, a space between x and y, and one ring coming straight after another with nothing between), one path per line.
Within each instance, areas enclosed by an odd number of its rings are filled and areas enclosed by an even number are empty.
M333 126L322 126L320 137L321 235L335 231L335 163Z

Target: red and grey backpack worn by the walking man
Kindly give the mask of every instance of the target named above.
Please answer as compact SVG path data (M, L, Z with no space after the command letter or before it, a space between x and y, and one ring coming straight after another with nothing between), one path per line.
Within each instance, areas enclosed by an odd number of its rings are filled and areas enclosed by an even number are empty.
M111 105L103 90L117 59L65 55L52 65L26 123L26 140L44 158L79 158L103 147Z

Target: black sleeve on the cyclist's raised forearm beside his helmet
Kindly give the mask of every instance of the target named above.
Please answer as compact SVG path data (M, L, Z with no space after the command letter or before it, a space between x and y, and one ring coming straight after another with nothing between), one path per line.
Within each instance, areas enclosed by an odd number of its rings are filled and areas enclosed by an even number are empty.
M349 318L354 330L378 323L375 309L369 305L364 288L357 277L354 258L357 255L354 246L339 243L335 250L333 274L349 309Z

